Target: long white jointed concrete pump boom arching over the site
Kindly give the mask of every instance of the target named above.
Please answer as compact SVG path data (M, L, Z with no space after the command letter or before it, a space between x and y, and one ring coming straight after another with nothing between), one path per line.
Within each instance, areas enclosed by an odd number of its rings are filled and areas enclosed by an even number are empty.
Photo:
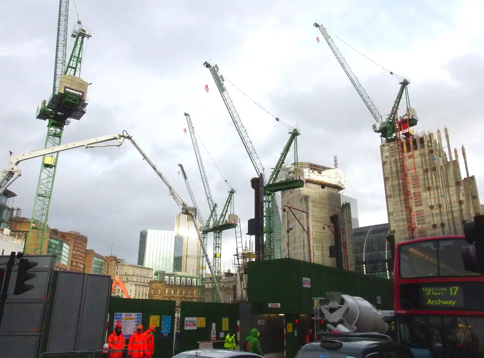
M73 148L79 148L79 147L85 147L85 148L108 147L108 146L119 147L124 142L124 139L127 139L134 145L134 147L139 152L139 154L141 154L141 156L148 162L150 167L156 172L156 174L158 174L160 179L163 180L163 183L165 183L165 185L168 187L170 195L176 201L177 205L181 208L181 212L185 215L190 216L193 222L197 223L197 220L195 219L193 213L191 213L188 210L188 205L186 204L186 202L181 199L180 195L178 195L177 192L173 189L173 187L168 183L166 178L163 176L162 172L160 172L156 167L156 165L151 161L151 159L147 157L147 155L139 147L138 143L136 143L136 141L133 139L133 137L126 132L87 139L87 140L79 141L75 143L61 144L55 147L34 150L32 152L20 154L17 156L11 155L8 167L4 168L0 173L0 195L5 191L7 186L12 184L16 178L22 175L20 168L18 168L18 163L20 163L23 160L43 157L48 154L62 152L67 149L73 149ZM115 141L115 140L118 141L118 143L106 144L106 142ZM220 302L223 302L222 294L220 293L220 289L218 287L216 277L213 274L212 263L210 262L209 255L207 253L207 248L203 244L202 236L201 236L200 230L198 229L197 224L195 224L195 228L197 229L198 241L202 246L203 254L205 255L205 259L207 260L207 265L209 267L210 273L212 274L212 282L213 282L213 286L215 287L215 292L219 296Z

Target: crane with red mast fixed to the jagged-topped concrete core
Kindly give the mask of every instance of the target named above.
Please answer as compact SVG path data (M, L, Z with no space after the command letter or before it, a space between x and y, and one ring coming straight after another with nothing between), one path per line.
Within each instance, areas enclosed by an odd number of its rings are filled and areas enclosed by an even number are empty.
M410 137L412 135L410 127L414 127L418 123L418 117L416 112L413 108L410 107L410 103L408 100L408 88L407 86L410 84L410 81L407 78L399 78L400 90L396 96L396 99L393 103L392 110L390 115L388 115L387 119L383 121L383 117L378 112L375 104L371 101L368 94L365 92L363 86L356 78L353 71L349 67L348 63L346 62L345 58L339 51L336 44L333 42L333 39L329 35L328 31L324 28L323 25L319 25L318 23L313 24L314 27L318 28L321 34L323 35L324 39L330 46L331 50L333 51L334 56L338 60L339 64L347 74L349 80L355 87L356 91L360 95L361 99L363 100L364 104L370 111L373 118L375 118L375 123L373 125L373 131L376 133L380 133L380 137L383 143L389 143L396 141L397 152L398 152L398 163L399 163L399 177L403 189L403 197L404 197L404 207L407 219L407 229L408 229L408 240L412 240L416 238L416 220L415 220L415 212L413 210L413 198L414 196L420 200L420 196L418 193L418 183L417 183L417 176L416 175L409 175L412 171L415 173L415 161L413 158L413 145L410 143L410 153L407 155L407 151L404 150L404 137ZM393 74L393 72L390 72ZM407 100L407 113L403 117L398 117L398 107L400 105L400 101L405 93L406 100ZM407 159L410 159L411 164L410 167L407 164ZM414 186L416 189L415 195L412 194L411 186ZM420 214L421 215L421 214ZM420 222L422 222L422 217L420 218ZM423 232L423 227L420 227Z

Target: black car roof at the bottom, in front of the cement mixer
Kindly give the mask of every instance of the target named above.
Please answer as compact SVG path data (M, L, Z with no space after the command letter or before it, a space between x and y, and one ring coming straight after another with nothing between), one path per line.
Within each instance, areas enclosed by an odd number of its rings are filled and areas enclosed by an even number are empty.
M414 358L407 346L379 333L331 332L304 345L295 358Z

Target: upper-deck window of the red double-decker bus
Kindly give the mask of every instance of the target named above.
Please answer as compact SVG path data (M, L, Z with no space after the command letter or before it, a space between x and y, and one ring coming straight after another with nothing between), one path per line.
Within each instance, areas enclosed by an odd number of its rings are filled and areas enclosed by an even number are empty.
M400 277L472 276L462 262L465 239L426 240L400 246Z

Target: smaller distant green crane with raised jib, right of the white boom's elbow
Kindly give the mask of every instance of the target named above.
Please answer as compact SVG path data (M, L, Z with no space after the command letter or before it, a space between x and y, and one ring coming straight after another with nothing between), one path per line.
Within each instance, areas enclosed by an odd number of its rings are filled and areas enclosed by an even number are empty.
M228 227L224 226L225 217L227 215L228 208L231 206L231 202L233 199L233 194L235 190L231 189L229 191L229 195L225 202L225 205L222 209L222 213L220 217L217 215L217 204L212 198L212 191L210 190L210 186L207 179L207 173L205 172L205 167L203 166L202 156L200 154L200 149L198 148L197 136L195 133L195 128L193 127L192 118L188 113L183 114L186 118L188 124L188 130L190 132L190 137L193 143L193 149L195 151L195 157L197 158L198 169L200 171L200 176L202 178L203 188L205 190L205 195L207 197L207 202L209 204L209 210L211 212L209 220L205 223L205 226L202 229L202 234L206 235L209 232L213 232L213 266L214 272L217 281L220 281L221 278L221 260L222 260L222 231L235 228L236 225L230 224ZM232 205L233 207L233 205ZM207 236L205 236L205 240ZM200 269L202 271L203 269ZM205 281L205 272L200 272L199 275L203 273L203 276L198 277L199 282L204 285ZM203 296L202 296L203 297Z

